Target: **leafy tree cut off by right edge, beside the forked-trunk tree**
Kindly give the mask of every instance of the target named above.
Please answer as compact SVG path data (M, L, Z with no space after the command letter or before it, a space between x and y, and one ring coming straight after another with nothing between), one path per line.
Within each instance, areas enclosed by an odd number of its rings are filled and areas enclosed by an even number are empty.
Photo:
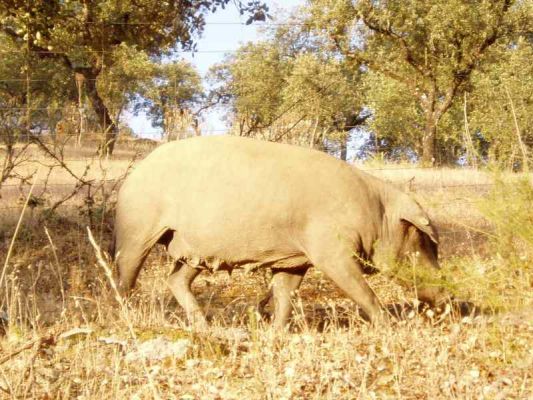
M528 166L533 146L533 46L524 35L491 51L492 62L473 75L466 97L470 130L486 143L490 162Z

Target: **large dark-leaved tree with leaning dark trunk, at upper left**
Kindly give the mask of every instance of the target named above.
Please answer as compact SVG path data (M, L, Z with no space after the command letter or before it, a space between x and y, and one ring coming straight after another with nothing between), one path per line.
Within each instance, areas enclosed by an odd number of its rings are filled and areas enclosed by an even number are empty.
M118 132L98 89L101 74L111 68L121 45L160 57L177 48L194 50L205 15L229 0L4 0L0 2L0 32L19 48L41 59L63 64L82 79L92 108L105 134L103 148L111 153ZM258 1L243 5L249 22L264 20L268 9Z

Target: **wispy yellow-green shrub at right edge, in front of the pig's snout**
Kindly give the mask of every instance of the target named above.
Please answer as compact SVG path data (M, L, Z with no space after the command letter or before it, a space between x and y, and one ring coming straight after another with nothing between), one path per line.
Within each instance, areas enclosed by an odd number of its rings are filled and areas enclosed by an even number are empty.
M533 185L497 178L479 209L492 224L489 257L454 257L442 267L452 293L493 311L527 307L533 285Z

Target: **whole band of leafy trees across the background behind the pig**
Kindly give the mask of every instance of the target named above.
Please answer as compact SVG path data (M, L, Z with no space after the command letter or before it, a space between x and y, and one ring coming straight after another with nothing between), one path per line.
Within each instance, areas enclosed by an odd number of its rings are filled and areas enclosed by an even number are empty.
M194 49L206 13L227 3L4 1L0 101L26 130L71 121L111 145L126 109L178 138L218 104L234 134L341 158L351 143L425 164L528 167L531 2L309 0L212 68L205 95L175 50ZM261 3L238 4L265 18Z

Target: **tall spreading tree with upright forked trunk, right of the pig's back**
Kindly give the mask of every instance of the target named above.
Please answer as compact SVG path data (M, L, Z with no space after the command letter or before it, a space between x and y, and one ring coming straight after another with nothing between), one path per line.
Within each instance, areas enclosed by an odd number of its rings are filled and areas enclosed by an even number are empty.
M437 127L487 51L512 31L513 3L315 0L309 23L353 68L362 63L409 93L423 114L422 161L433 164Z

